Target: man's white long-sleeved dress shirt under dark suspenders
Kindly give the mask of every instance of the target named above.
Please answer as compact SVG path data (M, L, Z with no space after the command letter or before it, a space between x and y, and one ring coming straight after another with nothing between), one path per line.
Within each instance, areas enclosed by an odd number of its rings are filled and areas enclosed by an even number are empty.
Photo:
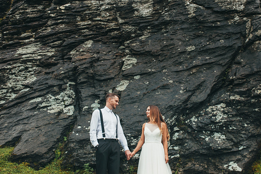
M116 124L118 122L118 140L124 148L124 151L129 150L127 140L123 133L123 128L119 122L117 115L117 121L114 113L107 106L101 109L103 113L104 131L106 139L116 139ZM103 139L103 131L101 125L101 117L99 116L99 110L96 109L92 113L91 125L90 125L90 140L95 147L98 145L97 139Z

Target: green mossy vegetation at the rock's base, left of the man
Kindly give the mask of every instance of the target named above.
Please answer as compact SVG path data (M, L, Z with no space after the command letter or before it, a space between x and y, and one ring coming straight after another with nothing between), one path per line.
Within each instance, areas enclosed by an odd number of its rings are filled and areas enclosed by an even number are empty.
M85 164L84 170L76 170L75 172L68 168L62 168L63 157L61 157L61 148L55 151L55 159L44 168L35 170L29 166L29 163L17 164L11 162L11 153L14 147L0 148L0 174L17 174L17 173L33 173L33 174L90 174L93 173L93 169L89 167L89 164ZM61 158L60 158L61 157Z

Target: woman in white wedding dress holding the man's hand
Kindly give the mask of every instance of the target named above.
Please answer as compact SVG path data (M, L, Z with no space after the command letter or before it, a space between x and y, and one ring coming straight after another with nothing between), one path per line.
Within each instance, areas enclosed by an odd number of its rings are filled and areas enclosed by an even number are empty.
M133 157L142 147L137 174L172 173L168 164L169 132L167 124L157 106L150 105L146 114L149 122L143 124L142 136L130 156Z

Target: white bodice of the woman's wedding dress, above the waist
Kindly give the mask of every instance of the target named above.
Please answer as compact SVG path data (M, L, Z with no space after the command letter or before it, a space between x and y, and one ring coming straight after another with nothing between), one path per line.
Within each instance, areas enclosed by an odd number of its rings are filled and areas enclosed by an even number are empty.
M145 124L144 128L145 143L161 143L162 133L156 124Z

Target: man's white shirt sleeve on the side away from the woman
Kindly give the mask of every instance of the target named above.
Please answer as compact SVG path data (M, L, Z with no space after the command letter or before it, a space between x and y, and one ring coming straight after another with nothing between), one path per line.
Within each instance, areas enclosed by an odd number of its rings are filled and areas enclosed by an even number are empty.
M91 144L95 147L98 145L97 141L97 128L98 128L98 123L99 123L99 110L96 109L92 113L92 118L91 118L91 125L90 125L90 140Z

